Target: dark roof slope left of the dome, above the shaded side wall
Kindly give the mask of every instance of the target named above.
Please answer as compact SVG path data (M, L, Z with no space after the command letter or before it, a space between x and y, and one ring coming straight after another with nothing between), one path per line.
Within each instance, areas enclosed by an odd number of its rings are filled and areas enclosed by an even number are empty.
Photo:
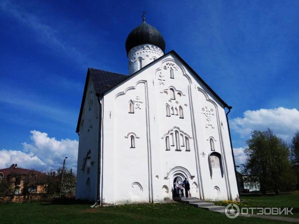
M89 79L92 80L96 94L102 95L110 88L116 86L117 84L119 84L120 82L125 80L127 77L128 77L127 75L123 75L123 74L119 74L119 73L107 72L107 71L103 71L103 70L99 70L99 69L88 68L76 132L79 132L79 127L80 127L79 125L80 125L81 115L82 115L83 108L84 108L84 102L85 102L85 98L86 98L87 85L88 85Z

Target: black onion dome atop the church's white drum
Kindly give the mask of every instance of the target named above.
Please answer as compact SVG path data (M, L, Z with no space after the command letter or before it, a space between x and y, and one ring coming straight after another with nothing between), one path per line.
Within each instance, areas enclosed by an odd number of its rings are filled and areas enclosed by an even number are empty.
M129 51L141 44L153 44L165 51L165 41L159 30L145 21L131 31L126 40L127 54Z

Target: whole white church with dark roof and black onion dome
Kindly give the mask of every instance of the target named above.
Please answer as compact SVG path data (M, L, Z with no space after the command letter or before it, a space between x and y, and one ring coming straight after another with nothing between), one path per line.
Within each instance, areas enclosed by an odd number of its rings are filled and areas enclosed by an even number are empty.
M161 33L145 18L126 50L129 75L88 69L76 198L159 203L187 178L192 197L237 200L231 107L175 51L164 53Z

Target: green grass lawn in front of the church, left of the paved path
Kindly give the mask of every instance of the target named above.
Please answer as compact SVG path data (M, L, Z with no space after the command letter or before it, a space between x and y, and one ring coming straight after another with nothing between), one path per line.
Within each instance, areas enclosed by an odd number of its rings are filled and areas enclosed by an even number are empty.
M0 204L0 224L11 223L282 223L209 212L181 203L140 204L91 209L89 204Z

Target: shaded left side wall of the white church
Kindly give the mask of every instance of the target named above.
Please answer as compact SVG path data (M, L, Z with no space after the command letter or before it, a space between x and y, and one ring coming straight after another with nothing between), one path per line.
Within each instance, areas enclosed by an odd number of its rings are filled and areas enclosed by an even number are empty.
M76 198L97 200L98 143L99 143L99 103L94 86L89 80L84 108L80 121L79 149L77 163ZM88 155L88 151L90 154ZM90 158L88 169L86 157ZM89 179L89 184L88 184Z

